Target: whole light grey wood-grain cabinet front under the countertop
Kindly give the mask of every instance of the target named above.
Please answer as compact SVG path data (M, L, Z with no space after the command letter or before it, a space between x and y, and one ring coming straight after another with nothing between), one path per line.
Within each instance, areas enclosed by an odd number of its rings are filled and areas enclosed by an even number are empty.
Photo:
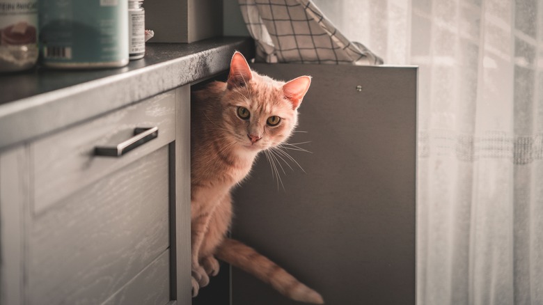
M182 86L0 151L1 304L190 304L189 99ZM95 155L139 127L158 131Z

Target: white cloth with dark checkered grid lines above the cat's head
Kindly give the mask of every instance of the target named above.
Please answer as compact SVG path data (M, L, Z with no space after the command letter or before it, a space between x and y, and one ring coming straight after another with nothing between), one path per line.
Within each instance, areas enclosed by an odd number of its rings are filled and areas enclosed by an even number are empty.
M383 60L350 42L310 0L238 0L256 41L256 61L379 65Z

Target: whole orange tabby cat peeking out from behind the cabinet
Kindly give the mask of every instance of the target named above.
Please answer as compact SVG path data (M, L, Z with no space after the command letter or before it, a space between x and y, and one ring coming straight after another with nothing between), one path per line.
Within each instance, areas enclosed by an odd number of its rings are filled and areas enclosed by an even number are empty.
M246 178L256 155L288 139L311 78L275 81L251 71L235 52L226 83L193 94L191 118L191 243L193 295L219 272L215 257L301 302L322 297L271 260L226 237L232 218L230 190Z

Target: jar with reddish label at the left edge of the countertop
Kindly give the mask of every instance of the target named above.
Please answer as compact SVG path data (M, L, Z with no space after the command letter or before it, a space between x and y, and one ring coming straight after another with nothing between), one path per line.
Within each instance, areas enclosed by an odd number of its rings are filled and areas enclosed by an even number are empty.
M38 0L0 0L0 72L38 61Z

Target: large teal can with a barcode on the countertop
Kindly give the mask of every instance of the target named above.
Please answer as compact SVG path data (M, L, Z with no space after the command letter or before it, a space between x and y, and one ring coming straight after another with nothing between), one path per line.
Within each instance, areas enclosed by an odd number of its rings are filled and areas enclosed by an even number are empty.
M127 0L40 0L42 64L115 68L128 63Z

